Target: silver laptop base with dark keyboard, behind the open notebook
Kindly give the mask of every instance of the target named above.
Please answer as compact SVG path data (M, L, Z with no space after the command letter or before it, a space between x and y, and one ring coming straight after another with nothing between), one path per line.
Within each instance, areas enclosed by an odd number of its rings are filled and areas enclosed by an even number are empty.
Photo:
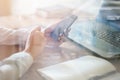
M107 22L77 19L71 26L68 38L104 58L120 55L119 26Z

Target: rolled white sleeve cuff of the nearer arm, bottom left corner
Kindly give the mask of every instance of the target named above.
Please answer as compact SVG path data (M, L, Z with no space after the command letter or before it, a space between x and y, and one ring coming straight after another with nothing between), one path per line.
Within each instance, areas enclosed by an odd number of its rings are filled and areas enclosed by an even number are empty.
M10 56L0 64L0 80L18 80L30 68L32 63L32 56L26 52Z

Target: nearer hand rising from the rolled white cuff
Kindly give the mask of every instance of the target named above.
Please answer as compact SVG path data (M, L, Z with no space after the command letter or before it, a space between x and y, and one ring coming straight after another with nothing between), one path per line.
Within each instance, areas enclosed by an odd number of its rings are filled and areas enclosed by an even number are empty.
M33 58L35 58L39 53L42 52L45 47L46 39L44 34L41 32L40 27L32 30L29 35L26 45L25 52L28 52Z

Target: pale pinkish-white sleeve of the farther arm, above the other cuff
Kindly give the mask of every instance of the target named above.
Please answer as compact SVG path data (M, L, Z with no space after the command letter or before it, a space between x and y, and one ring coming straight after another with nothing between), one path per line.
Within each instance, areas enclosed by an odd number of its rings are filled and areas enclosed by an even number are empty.
M28 36L27 29L10 29L5 27L0 27L0 44L2 45L15 45L25 42ZM22 38L21 38L22 35Z

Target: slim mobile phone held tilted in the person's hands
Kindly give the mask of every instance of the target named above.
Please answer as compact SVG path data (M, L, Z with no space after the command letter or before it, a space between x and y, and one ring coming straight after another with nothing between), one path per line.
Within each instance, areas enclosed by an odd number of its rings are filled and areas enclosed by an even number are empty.
M70 15L64 18L56 25L55 29L51 32L51 37L55 41L59 41L59 37L70 29L70 26L74 23L76 19L76 15Z

